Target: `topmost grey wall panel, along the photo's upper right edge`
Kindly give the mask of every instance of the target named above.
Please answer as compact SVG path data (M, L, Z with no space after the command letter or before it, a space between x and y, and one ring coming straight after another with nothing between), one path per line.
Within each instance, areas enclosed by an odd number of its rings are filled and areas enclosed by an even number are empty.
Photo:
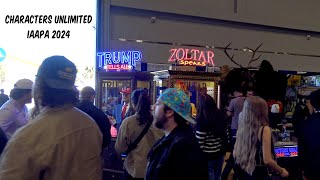
M234 12L237 1L237 13ZM320 32L317 0L112 0L112 5Z

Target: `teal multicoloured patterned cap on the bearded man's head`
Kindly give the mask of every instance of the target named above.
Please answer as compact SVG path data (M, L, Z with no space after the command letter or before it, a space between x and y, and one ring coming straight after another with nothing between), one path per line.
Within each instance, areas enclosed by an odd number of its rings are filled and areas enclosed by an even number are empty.
M186 93L176 88L169 88L159 98L163 104L178 113L185 120L196 124L196 121L191 117L190 98Z

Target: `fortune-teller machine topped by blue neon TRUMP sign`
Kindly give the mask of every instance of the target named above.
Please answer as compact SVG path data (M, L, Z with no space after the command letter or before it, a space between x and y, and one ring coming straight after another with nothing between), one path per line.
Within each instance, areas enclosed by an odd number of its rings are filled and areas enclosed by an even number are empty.
M137 63L142 58L140 51L100 52L97 56L96 104L109 116L110 124L112 124L110 130L111 143L103 152L104 177L107 179L122 179L123 162L114 149L117 128L122 122L123 102L120 92L123 89L131 92L135 89L144 89L151 95L153 92L153 75L137 70L137 66L141 65ZM140 69L142 68L140 67Z

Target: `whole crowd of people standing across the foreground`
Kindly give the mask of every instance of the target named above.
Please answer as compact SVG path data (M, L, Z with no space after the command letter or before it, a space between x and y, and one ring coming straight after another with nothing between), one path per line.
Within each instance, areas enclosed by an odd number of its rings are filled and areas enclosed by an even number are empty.
M225 114L204 93L193 118L190 97L182 90L168 88L152 105L146 91L125 88L119 122L94 106L92 87L76 90L76 74L70 60L51 56L35 82L15 83L0 108L0 180L100 180L112 126L119 129L115 149L124 159L126 180L219 180L231 169L239 180L289 176L276 162L268 104L259 96L237 89ZM32 98L35 107L28 112ZM320 152L313 141L320 134L320 91L311 93L307 107L299 158L305 178L313 180L319 157L311 155ZM222 172L227 151L231 156Z

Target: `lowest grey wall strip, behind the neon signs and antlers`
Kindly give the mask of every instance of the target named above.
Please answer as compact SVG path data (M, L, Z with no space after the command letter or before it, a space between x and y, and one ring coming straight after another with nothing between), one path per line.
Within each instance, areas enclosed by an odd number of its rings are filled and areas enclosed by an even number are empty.
M175 47L183 46L172 46L172 45L160 45L160 44L148 44L148 43L136 43L136 42L121 42L117 40L111 41L112 50L141 50L143 54L142 61L148 63L162 63L166 64L168 58L170 57L169 50ZM190 47L185 47L190 48ZM206 50L206 48L199 48L201 50ZM229 65L230 67L237 67L234 65L223 51L219 49L213 50L215 53L214 61L215 65L221 67L223 65ZM235 59L237 62L246 66L250 60L251 53L249 52L232 52L235 53ZM257 54L258 55L258 54ZM277 70L293 70L293 71L310 71L319 72L319 59L310 57L298 57L290 55L276 55L276 54L263 54L261 60L266 59L271 62ZM253 63L253 66L258 66L260 61Z

